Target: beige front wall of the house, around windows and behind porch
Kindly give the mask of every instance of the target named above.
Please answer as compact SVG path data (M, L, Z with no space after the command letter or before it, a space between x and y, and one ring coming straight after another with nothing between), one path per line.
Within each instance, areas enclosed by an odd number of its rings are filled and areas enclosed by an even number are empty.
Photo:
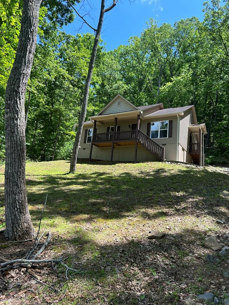
M156 122L163 120L173 120L173 136L172 138L163 138L163 139L154 139L155 142L165 147L165 159L166 160L176 160L176 140L177 140L177 117L160 117L156 120L148 119L148 120L140 120L141 127L140 129L146 134L147 133L147 123L148 122ZM120 131L129 131L129 124L136 124L137 119L134 120L118 120L117 125L120 125ZM103 125L97 123L97 133L105 133L107 132L108 126L114 126L114 121L110 121L108 123L104 123ZM79 149L78 158L89 158L90 152L90 143L84 142L85 129L93 128L93 124L87 125L83 127L82 137L80 141L81 148ZM163 145L166 144L166 145ZM85 149L84 149L85 148ZM116 147L114 149L114 161L133 161L134 160L134 146L128 147ZM137 153L138 161L153 161L158 160L155 159L155 156L151 154L145 147L139 146ZM111 148L97 148L93 146L92 158L97 160L110 160L111 158Z

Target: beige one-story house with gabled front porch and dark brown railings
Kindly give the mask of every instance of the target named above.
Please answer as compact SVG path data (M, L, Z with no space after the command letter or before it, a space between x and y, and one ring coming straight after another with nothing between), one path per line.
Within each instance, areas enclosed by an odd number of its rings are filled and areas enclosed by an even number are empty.
M205 124L195 107L136 107L117 95L83 125L78 158L112 161L176 160L204 164Z

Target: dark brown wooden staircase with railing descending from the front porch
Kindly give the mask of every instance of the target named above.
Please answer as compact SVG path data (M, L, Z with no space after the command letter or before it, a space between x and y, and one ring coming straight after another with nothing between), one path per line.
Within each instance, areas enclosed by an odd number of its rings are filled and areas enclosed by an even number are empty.
M158 143L154 142L154 140L144 134L144 132L142 132L140 129L138 130L138 143L144 146L160 161L165 160L165 147L162 147Z

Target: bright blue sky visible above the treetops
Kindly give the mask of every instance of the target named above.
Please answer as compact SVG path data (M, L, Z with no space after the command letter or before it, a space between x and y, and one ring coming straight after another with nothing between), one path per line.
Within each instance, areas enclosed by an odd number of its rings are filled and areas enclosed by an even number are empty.
M80 10L80 13L84 15L90 11L93 19L90 19L89 16L85 16L85 19L96 27L101 2L100 0L88 0L88 2L92 9L87 5L85 9ZM106 42L106 49L113 50L119 45L127 44L131 36L140 35L150 18L158 20L159 23L171 24L192 16L196 16L202 21L203 2L204 0L136 0L130 4L128 0L119 0L117 5L105 14L101 38ZM105 3L107 7L112 0L106 0ZM79 9L80 4L75 8ZM87 25L83 25L80 29L81 26L82 22L76 18L74 23L63 27L63 30L72 35L92 32Z

